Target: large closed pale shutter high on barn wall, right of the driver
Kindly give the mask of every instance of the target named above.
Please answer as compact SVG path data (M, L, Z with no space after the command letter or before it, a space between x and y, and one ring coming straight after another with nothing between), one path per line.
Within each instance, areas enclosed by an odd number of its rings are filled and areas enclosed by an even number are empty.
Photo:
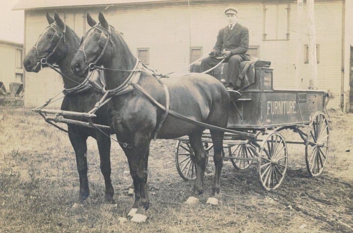
M290 3L264 4L263 40L289 40Z

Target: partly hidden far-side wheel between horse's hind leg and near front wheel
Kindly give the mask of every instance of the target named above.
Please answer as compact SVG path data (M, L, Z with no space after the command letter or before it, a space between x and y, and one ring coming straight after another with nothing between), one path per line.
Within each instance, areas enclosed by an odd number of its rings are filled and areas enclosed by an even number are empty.
M234 168L241 169L241 170L249 168L250 165L252 164L252 160L241 160L236 158L249 158L249 159L254 158L255 153L252 150L252 146L247 147L246 144L239 144L234 147L235 149L232 149L232 147L228 147L229 156L235 157L234 159L230 159Z

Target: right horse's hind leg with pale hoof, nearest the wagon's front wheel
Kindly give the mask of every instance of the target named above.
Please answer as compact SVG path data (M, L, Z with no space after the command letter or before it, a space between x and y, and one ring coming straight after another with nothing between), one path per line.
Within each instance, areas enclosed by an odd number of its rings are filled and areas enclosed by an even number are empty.
M217 195L220 193L220 176L221 176L221 171L223 167L223 157L224 157L224 151L223 151L224 132L216 131L216 130L210 130L210 132L211 132L213 149L214 149L213 161L215 163L216 171L215 171L215 177L214 177L214 182L212 186L212 196L208 198L206 203L217 205L218 204Z

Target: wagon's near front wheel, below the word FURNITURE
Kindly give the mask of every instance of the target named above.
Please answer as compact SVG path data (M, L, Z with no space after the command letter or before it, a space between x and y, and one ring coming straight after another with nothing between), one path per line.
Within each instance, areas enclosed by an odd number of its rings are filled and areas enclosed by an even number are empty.
M279 132L270 133L263 141L258 160L260 184L267 190L277 189L287 171L288 150Z

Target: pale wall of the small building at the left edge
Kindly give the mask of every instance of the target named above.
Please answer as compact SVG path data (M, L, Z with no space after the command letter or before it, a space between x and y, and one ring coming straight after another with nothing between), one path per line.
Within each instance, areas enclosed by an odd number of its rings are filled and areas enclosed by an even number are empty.
M22 59L16 56L17 49L22 51L23 48L21 46L0 43L0 81L4 84L6 91L10 90L10 83L22 82L20 77L23 74ZM21 61L21 66L17 62L19 68L16 67L16 59ZM16 73L18 74L17 76Z

